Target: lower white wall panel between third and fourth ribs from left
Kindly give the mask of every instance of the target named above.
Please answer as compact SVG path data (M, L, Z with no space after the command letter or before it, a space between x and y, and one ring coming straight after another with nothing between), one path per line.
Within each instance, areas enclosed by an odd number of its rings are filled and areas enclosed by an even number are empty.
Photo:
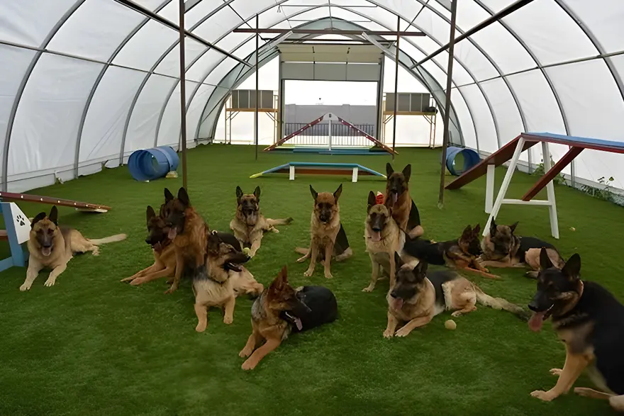
M147 80L130 115L124 152L154 147L158 116L175 82L175 79L156 74Z

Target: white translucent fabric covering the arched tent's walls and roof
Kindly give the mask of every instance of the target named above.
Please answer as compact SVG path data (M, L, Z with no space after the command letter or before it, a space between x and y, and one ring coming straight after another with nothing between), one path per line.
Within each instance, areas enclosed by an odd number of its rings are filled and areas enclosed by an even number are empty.
M177 0L134 2L179 22ZM459 0L457 35L512 3ZM255 37L233 30L254 27L257 14L263 28L343 21L369 30L396 30L399 16L401 30L426 35L401 38L413 62L450 33L449 0L186 0L185 7L187 30L252 64ZM454 140L483 153L523 131L624 141L623 20L622 0L535 0L457 43L451 98L461 137ZM243 74L232 57L191 38L184 44L194 145L213 137L211 114ZM0 1L2 188L24 191L123 163L133 150L177 146L178 52L176 30L116 0ZM442 52L420 77L444 88L448 59ZM552 146L553 159L566 151ZM524 157L533 167L540 159L537 147ZM624 189L623 162L585 150L564 172L592 183L613 176Z

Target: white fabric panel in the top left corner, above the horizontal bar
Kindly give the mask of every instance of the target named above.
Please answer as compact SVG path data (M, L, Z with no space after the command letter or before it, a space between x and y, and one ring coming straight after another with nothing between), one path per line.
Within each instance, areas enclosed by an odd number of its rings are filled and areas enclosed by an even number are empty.
M50 30L77 0L0 1L0 40L21 45L41 45Z

